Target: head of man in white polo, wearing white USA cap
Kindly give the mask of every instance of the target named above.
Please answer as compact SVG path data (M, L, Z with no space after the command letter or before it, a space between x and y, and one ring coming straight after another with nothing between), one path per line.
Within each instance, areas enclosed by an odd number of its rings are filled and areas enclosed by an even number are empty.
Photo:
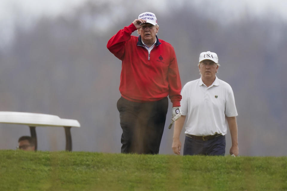
M200 53L198 66L203 78L215 78L219 67L217 54L210 51Z

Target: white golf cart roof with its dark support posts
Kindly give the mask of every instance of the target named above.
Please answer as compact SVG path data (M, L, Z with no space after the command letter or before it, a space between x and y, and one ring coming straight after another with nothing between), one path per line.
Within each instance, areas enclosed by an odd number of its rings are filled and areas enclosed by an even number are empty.
M37 126L64 127L66 135L66 150L72 150L71 127L80 127L80 123L74 119L61 119L57 115L42 113L25 113L0 111L0 123L22 124L30 127L31 137L35 138L37 150Z

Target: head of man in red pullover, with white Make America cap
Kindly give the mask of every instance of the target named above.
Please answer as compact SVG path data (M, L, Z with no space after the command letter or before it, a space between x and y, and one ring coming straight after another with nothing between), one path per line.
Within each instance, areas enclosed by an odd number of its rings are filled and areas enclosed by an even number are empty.
M158 21L154 13L145 12L138 16L138 19L146 20L146 23L138 29L138 34L145 44L152 44L155 42L156 34L158 33Z

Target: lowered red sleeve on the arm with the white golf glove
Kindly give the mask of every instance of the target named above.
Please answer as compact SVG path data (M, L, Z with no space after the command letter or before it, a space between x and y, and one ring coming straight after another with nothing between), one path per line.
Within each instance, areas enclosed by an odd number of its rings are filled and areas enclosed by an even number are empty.
M170 54L171 54L171 62L168 70L169 98L170 101L172 102L172 107L179 107L182 98L180 95L181 81L175 51L173 47Z

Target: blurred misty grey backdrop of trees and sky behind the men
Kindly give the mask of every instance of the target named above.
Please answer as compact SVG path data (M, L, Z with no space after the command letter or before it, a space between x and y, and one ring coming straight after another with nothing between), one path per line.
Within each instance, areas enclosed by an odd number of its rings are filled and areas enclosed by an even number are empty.
M182 87L200 77L201 52L217 53L217 77L233 88L239 114L239 155L287 155L286 1L52 2L0 4L0 111L76 119L74 151L120 153L121 61L106 44L149 11L158 38L175 49ZM160 154L173 154L171 108L169 101ZM65 149L64 128L36 132L38 150ZM15 149L22 135L30 135L27 126L0 124L0 149ZM229 131L226 140L228 154Z

